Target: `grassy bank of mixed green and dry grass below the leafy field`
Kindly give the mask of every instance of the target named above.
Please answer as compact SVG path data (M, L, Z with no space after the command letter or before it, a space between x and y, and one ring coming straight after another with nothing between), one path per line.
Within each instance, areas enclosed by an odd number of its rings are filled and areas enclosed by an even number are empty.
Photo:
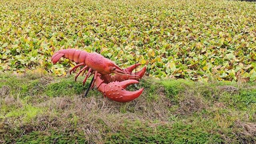
M82 77L0 76L4 143L254 143L255 84L144 78L139 98L117 103ZM235 92L223 86L238 88ZM222 87L220 87L222 86ZM19 89L20 91L17 91ZM246 127L246 129L244 129Z

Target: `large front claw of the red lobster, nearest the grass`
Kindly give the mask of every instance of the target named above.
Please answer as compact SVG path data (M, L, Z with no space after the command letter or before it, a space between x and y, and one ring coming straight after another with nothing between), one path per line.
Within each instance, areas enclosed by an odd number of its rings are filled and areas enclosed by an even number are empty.
M137 80L110 82L109 84L106 84L104 88L104 95L116 102L129 102L131 100L134 100L135 98L138 98L144 90L144 88L141 88L140 90L136 90L134 92L125 90L127 86L137 83Z

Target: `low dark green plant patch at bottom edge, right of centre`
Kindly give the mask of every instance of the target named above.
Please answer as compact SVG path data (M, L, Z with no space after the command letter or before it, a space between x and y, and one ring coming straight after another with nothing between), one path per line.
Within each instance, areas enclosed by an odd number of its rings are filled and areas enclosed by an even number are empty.
M109 144L124 143L176 143L176 144L195 144L195 143L220 143L223 140L219 134L210 133L197 125L175 122L171 125L160 125L155 128L144 124L134 126L134 128L119 131L107 138Z

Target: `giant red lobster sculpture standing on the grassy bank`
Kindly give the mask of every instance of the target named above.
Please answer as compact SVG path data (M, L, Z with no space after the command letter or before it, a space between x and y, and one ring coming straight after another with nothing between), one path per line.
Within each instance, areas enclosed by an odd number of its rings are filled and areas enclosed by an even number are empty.
M70 70L70 74L73 70L75 71L76 68L84 66L84 68L76 74L75 81L79 74L88 70L83 84L88 77L94 74L91 88L93 88L95 83L98 90L102 92L104 96L116 102L129 102L134 100L140 96L144 90L144 88L141 88L140 90L130 92L126 91L125 88L130 84L138 83L137 80L142 78L146 72L146 66L139 72L132 73L134 68L138 67L140 64L134 64L123 70L114 62L96 52L88 53L74 48L59 50L54 53L51 58L53 64L56 64L61 57L76 62L77 65Z

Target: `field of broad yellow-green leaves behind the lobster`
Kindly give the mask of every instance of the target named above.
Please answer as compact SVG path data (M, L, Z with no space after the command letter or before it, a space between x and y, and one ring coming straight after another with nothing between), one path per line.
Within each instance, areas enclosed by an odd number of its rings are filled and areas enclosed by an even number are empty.
M136 62L158 78L256 80L256 3L233 0L1 0L0 71L65 75L64 48ZM136 55L136 56L135 56Z

